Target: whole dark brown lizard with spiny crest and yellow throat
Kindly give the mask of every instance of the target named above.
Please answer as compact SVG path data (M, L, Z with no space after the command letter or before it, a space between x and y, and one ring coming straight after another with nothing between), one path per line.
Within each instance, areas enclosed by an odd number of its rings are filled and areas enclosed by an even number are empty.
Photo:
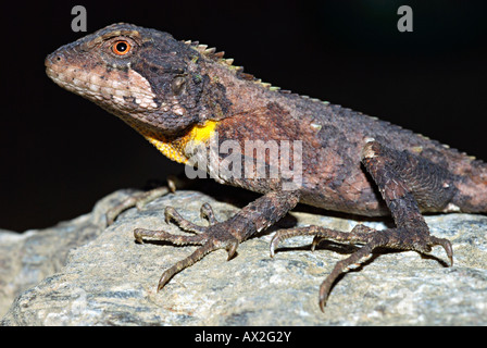
M358 224L351 232L304 226L275 233L271 256L283 240L298 235L313 236L312 249L322 239L361 246L337 262L322 283L322 311L338 276L378 247L428 253L440 246L453 264L451 243L433 236L423 214L486 213L487 163L377 117L282 90L233 61L198 41L126 23L62 46L45 61L54 83L120 117L168 159L187 167L198 164L218 183L262 195L226 221L217 221L211 206L203 204L208 226L167 207L166 221L192 234L136 228L136 241L198 246L162 273L158 291L214 250L225 249L233 258L239 244L298 203L391 216L395 223L385 229ZM258 158L246 145L259 140L282 148L264 148ZM232 151L223 149L225 141L230 141ZM213 160L198 162L208 157ZM290 163L288 169L297 170L292 179L299 181L291 182L284 171L274 176L245 172L238 161L232 162L232 170L222 170L229 169L229 158L255 160L266 171Z

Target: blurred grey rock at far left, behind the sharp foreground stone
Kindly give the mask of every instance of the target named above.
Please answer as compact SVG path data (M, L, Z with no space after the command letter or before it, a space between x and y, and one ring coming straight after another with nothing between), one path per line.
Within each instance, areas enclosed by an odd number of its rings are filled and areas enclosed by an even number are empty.
M89 214L51 228L23 234L0 229L0 318L18 294L60 271L70 250L85 245L104 229L104 212L120 195L123 194L100 200Z

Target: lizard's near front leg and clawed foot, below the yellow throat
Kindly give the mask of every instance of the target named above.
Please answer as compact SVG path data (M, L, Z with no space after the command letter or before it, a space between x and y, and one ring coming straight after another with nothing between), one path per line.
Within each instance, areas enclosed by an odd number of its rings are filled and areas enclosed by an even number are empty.
M210 204L201 207L201 213L210 222L208 227L196 225L182 217L174 208L165 210L166 222L174 221L180 228L195 233L193 235L173 235L164 231L136 228L134 236L137 241L143 238L165 240L175 245L199 245L186 259L176 262L165 270L159 281L158 291L178 272L195 264L205 254L226 249L230 259L240 243L261 232L296 207L299 191L271 191L246 206L234 216L224 222L217 222Z

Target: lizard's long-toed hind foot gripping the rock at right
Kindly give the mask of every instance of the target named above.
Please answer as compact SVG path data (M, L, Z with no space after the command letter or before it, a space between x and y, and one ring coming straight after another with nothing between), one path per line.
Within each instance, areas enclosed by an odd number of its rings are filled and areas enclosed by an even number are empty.
M402 228L387 228L376 231L365 225L359 224L350 233L324 228L320 226L308 226L278 231L271 241L271 257L274 257L278 244L295 236L314 236L312 250L322 240L334 240L339 243L362 244L363 246L350 254L348 258L338 261L332 273L325 278L320 287L320 308L324 311L332 287L337 277L359 266L372 256L372 251L377 247L387 247L401 250L415 250L427 253L434 246L441 246L453 264L453 251L448 239L430 236L428 232L410 231Z

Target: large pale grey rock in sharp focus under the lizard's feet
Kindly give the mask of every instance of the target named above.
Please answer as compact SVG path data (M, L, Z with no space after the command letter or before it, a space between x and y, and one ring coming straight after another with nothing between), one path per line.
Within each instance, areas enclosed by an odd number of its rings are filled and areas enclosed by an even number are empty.
M117 199L123 196L117 195ZM115 196L107 200L111 201ZM155 293L162 271L188 256L195 247L173 247L157 241L139 245L134 240L133 229L164 228L180 233L177 227L164 222L165 206L173 206L183 216L204 224L199 217L199 209L204 201L213 206L220 220L227 219L238 209L189 190L160 198L141 211L130 209L98 237L73 249L64 268L52 268L58 273L47 276L18 296L0 323L487 324L487 216L483 215L449 214L426 217L436 236L447 237L452 241L455 262L453 268L446 266L448 259L439 247L428 257L412 251L386 250L384 254L376 253L363 266L339 279L328 299L325 313L320 311L317 304L319 286L335 262L347 257L353 247L323 243L316 251L311 252L309 245L312 238L299 237L285 241L276 257L271 259L270 240L276 228L289 227L296 222L299 225L321 224L350 231L357 221L323 215L323 211L302 207L284 219L277 227L240 245L238 256L233 260L226 261L226 251L216 251L174 276L164 289ZM98 211L97 213L99 214ZM70 234L83 234L83 226L90 219L99 222L102 220L100 216L87 215L53 231L71 226ZM74 227L77 222L82 222L80 228ZM382 222L364 223L376 228L385 227ZM63 243L62 233L59 234L60 237L53 244ZM40 236L40 233L36 236ZM11 237L0 239L0 245L4 240L11 243ZM17 238L32 237L27 234ZM80 239L83 238L88 239ZM38 257L35 250L28 250L27 253L25 248L21 257L12 253L14 256L23 259ZM3 258L1 260L4 262ZM29 272L35 272L34 266L30 269ZM36 281L38 278L40 276ZM2 278L0 290L4 293L5 288L12 286L10 279L14 277L8 278L8 282Z

